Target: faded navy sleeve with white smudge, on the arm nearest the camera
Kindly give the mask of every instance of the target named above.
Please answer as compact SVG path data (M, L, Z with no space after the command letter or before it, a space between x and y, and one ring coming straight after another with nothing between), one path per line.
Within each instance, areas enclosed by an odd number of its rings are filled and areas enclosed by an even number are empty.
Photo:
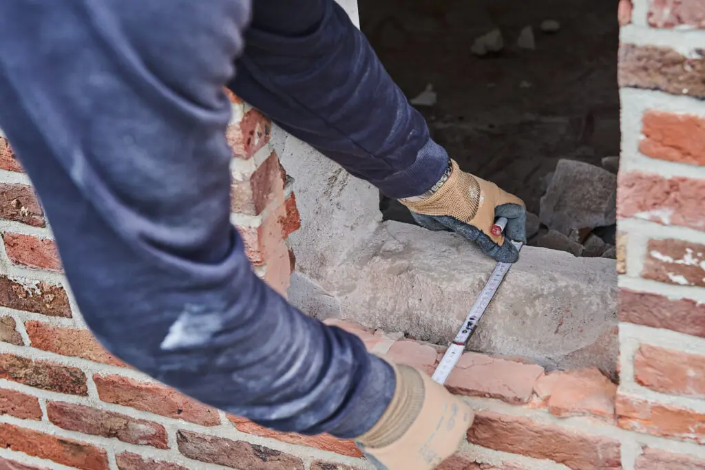
M224 137L245 0L0 2L0 127L108 350L226 412L343 438L391 368L259 280L229 215Z

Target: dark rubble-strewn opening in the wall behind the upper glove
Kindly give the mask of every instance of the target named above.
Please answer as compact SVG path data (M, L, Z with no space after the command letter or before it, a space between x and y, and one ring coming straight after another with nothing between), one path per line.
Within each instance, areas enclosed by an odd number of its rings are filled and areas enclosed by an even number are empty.
M359 6L362 31L436 142L463 170L526 202L529 245L615 257L615 1ZM435 100L424 104L428 85ZM385 220L414 223L384 196L380 209Z

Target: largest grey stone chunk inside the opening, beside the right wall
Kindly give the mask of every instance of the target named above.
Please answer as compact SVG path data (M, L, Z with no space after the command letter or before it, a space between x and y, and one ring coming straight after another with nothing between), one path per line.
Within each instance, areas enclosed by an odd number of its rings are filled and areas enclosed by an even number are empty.
M541 197L539 219L565 235L574 228L612 225L616 222L616 194L616 175L589 163L563 159Z

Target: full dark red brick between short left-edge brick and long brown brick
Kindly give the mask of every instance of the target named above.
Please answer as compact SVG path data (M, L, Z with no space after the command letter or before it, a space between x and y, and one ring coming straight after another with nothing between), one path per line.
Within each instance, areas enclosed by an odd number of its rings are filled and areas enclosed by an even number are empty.
M151 445L157 449L168 448L164 426L144 419L62 402L47 403L47 416L56 426L69 431L117 438L123 443Z

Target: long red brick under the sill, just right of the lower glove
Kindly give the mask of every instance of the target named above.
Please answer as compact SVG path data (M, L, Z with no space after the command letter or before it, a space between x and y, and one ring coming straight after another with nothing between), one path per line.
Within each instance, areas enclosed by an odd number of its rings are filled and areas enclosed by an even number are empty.
M571 469L620 469L620 443L553 424L494 412L475 415L467 439L494 450L549 459Z

